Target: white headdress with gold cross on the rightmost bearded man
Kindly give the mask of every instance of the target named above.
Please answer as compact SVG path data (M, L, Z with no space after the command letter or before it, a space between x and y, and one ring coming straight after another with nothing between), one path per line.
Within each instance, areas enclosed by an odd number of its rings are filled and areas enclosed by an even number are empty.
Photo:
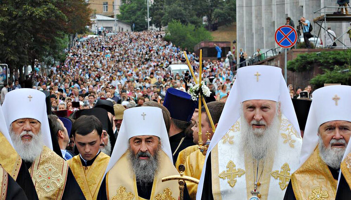
M307 117L301 148L301 166L318 145L318 128L330 121L351 122L351 86L327 86L312 93L313 100Z

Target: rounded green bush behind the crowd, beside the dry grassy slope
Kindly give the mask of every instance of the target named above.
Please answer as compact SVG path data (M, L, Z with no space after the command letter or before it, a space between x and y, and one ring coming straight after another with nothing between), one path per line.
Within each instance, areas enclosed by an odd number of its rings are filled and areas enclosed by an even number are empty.
M203 27L196 28L192 24L184 25L179 21L173 20L168 24L166 40L172 41L176 46L193 50L195 44L200 41L212 40L211 33Z

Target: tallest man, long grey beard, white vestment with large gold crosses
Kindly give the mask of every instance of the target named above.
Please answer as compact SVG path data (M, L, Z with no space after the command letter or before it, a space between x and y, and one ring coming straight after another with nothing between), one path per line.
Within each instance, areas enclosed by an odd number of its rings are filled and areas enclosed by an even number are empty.
M280 68L237 71L206 154L196 199L283 199L302 140Z

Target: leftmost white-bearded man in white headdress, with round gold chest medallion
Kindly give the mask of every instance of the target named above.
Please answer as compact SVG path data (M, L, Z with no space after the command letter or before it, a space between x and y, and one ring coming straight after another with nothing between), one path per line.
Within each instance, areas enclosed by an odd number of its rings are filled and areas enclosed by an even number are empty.
M13 146L29 169L39 199L84 199L68 164L52 150L45 108L41 91L6 94L2 109Z

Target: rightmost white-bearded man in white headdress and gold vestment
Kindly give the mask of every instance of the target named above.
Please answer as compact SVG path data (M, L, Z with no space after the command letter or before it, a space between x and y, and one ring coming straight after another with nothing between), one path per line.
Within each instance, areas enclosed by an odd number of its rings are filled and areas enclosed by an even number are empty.
M313 92L300 166L292 174L284 200L335 199L340 164L351 136L350 102L350 86L328 86ZM351 181L350 176L345 178ZM338 192L338 199L350 197L350 188Z

